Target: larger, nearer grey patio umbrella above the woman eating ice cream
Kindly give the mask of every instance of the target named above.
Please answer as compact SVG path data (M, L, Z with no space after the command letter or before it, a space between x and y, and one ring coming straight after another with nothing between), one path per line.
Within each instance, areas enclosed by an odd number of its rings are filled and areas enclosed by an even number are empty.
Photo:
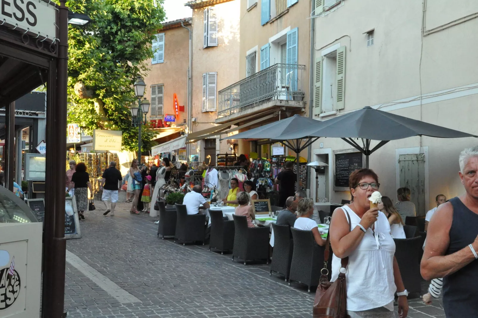
M342 138L366 156L365 165L367 168L369 168L370 154L390 140L422 135L437 138L478 137L420 120L394 115L369 106L322 121L315 127L317 129L314 132L307 129L308 136ZM288 137L287 134L282 135L282 138ZM353 138L360 138L363 146L360 146ZM370 149L370 140L380 140L380 142Z

